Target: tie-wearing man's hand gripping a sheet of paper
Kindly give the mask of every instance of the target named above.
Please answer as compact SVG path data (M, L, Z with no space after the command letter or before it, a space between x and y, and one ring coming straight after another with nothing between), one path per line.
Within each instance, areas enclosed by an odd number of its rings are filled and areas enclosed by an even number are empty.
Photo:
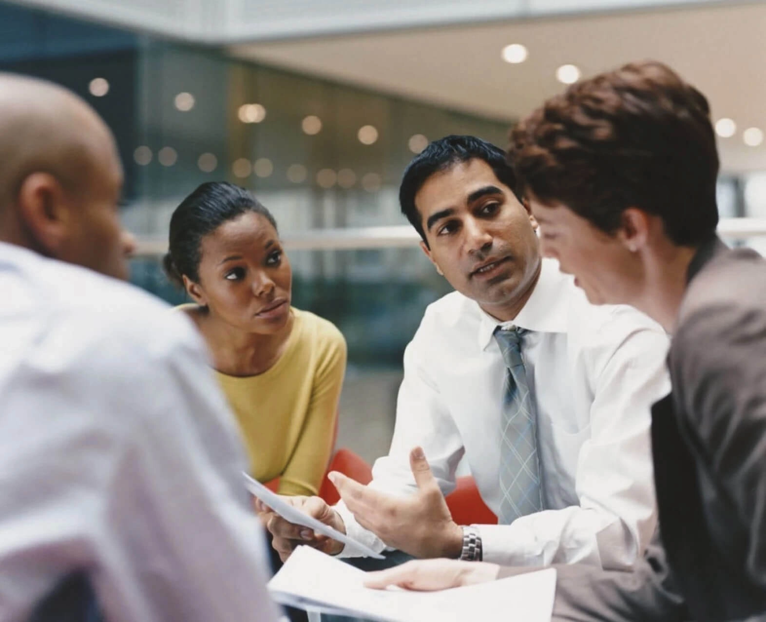
M283 499L309 516L331 526L341 533L345 533L345 525L338 512L328 506L318 496L283 496ZM287 522L279 514L266 506L260 499L255 500L255 509L260 521L273 535L271 545L280 554L282 561L287 561L296 546L309 545L329 555L337 555L342 551L343 545L326 535L318 534L304 527Z

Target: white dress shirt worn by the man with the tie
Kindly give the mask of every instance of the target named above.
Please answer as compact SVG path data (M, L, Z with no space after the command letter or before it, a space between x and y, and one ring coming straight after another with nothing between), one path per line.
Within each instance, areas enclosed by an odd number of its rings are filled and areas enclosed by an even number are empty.
M656 526L650 406L669 392L669 345L658 324L629 306L588 303L555 260L542 260L532 296L513 322L532 331L522 357L537 408L545 509L510 525L480 525L483 558L506 565L585 562L630 568ZM496 514L506 365L500 322L450 293L431 304L404 352L391 451L370 486L414 489L408 455L421 445L444 494L466 458ZM353 538L385 548L349 510Z

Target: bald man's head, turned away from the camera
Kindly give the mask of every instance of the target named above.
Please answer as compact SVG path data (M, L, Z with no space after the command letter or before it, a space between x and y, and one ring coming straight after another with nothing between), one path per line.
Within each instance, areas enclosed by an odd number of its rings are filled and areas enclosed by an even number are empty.
M127 277L112 133L74 93L0 73L0 241Z

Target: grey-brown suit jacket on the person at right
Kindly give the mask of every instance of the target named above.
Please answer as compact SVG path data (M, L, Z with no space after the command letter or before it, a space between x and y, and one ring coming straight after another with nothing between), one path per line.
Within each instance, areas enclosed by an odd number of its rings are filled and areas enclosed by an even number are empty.
M676 326L652 412L663 542L629 573L559 568L555 620L766 620L766 261L703 244Z

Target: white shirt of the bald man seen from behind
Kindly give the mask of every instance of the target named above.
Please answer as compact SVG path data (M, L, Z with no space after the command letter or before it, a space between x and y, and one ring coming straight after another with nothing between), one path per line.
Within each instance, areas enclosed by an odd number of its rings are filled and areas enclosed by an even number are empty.
M0 244L0 622L87 571L114 622L277 620L237 428L188 319Z

